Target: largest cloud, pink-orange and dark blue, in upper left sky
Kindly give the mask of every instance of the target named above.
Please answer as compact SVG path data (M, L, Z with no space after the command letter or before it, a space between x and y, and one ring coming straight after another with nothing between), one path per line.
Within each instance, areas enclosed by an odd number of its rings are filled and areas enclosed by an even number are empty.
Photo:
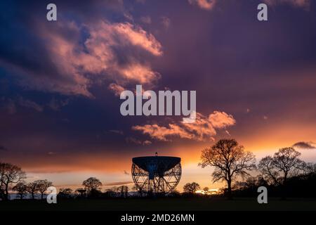
M162 56L162 45L138 25L65 20L51 26L35 23L32 34L36 43L18 51L19 43L13 41L10 45L16 47L6 52L14 56L0 55L1 65L28 89L93 98L89 88L105 79L120 86L152 86L160 77L149 61Z

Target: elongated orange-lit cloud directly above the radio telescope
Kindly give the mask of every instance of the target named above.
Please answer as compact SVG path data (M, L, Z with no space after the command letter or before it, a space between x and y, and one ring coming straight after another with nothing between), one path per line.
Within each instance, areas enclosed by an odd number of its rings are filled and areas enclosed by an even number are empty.
M152 139L159 141L172 141L176 137L195 141L209 141L216 135L216 129L230 127L235 122L232 115L214 111L209 117L197 113L197 119L194 123L169 123L167 126L145 124L143 126L133 126L132 129L147 134Z

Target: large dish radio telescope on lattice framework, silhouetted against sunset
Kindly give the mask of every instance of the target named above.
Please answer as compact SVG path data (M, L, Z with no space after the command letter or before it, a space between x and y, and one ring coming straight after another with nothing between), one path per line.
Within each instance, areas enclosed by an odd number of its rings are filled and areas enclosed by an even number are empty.
M181 177L180 158L143 156L133 158L131 174L138 190L147 193L170 193Z

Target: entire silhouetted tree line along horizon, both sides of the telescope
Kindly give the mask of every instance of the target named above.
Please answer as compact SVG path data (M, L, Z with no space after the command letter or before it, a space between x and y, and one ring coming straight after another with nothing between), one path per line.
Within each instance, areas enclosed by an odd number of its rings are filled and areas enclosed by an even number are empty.
M280 148L274 155L262 158L256 165L255 155L239 145L235 139L221 139L210 148L202 150L201 162L199 166L213 167L213 182L224 181L223 188L225 196L229 199L235 195L254 195L258 186L269 187L278 195L286 197L299 195L299 190L305 190L310 195L316 193L312 190L316 188L316 164L304 162L300 159L301 153L294 148ZM251 176L258 174L257 176ZM9 191L15 191L22 199L26 193L35 198L37 193L44 198L44 193L49 186L53 186L51 181L46 179L25 182L26 174L22 169L10 163L0 162L0 198L8 200ZM304 185L304 186L303 186ZM129 193L128 186L112 187L100 191L102 182L96 177L90 177L83 181L83 188L73 191L71 188L60 188L58 195L61 198L78 197L122 197L126 198ZM185 193L194 194L201 187L192 182L183 186ZM144 191L136 186L132 188L138 195L143 196ZM208 193L209 188L204 188ZM173 195L179 195L176 191ZM311 195L310 195L311 196ZM308 197L308 196L307 196Z

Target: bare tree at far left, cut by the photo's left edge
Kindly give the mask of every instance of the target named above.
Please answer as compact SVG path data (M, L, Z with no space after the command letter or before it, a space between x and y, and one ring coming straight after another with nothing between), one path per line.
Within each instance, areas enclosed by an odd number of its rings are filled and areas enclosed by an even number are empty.
M25 172L16 165L0 162L0 188L4 200L8 200L8 191L13 184L18 184L25 179Z

